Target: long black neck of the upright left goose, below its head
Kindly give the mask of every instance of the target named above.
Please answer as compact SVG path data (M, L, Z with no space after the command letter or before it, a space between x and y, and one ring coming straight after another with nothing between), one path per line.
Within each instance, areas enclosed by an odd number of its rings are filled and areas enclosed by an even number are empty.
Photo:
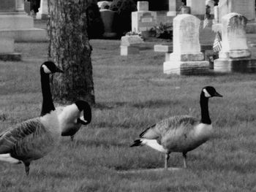
M49 74L45 74L43 69L40 69L41 74L41 86L42 86L42 111L41 116L50 113L50 111L55 110L53 105L53 99L50 93L50 80Z

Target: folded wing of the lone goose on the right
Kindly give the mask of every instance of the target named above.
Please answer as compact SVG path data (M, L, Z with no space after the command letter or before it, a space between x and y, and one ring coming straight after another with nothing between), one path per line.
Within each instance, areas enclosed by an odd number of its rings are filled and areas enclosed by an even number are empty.
M140 137L145 139L161 139L171 130L176 130L180 127L192 127L188 125L194 125L197 122L197 118L189 115L173 116L146 128L146 130L140 134Z

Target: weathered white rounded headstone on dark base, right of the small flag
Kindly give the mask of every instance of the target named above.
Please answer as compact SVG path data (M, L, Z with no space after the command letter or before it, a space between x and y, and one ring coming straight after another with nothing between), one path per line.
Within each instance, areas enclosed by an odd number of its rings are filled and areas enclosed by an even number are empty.
M222 50L214 61L215 72L256 72L246 41L246 18L238 13L222 17Z

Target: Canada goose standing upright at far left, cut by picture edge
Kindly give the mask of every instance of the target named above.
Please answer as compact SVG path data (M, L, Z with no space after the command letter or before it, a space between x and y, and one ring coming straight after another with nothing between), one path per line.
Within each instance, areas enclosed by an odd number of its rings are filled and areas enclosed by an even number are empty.
M50 93L49 74L63 72L52 61L40 66L42 85L41 117L23 121L0 134L0 161L25 165L42 158L59 142L61 128Z

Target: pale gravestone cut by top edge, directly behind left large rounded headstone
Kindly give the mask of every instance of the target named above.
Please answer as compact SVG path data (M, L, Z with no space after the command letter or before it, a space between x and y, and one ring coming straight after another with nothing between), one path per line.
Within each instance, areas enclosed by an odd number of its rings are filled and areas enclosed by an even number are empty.
M192 15L203 19L206 13L206 0L187 0L187 6L190 7Z

